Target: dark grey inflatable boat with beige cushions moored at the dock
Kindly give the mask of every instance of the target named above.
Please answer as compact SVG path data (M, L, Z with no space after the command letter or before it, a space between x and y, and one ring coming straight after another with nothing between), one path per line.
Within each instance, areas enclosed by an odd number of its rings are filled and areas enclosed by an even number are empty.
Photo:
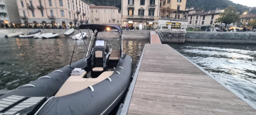
M125 95L132 76L131 56L123 53L122 30L112 25L81 25L93 30L85 57L0 97L3 115L104 115ZM97 32L94 32L97 30ZM99 32L118 32L119 49ZM85 43L85 42L84 42ZM74 45L74 50L76 45ZM89 50L90 49L90 50ZM73 50L73 52L74 52ZM72 71L81 68L81 74Z

